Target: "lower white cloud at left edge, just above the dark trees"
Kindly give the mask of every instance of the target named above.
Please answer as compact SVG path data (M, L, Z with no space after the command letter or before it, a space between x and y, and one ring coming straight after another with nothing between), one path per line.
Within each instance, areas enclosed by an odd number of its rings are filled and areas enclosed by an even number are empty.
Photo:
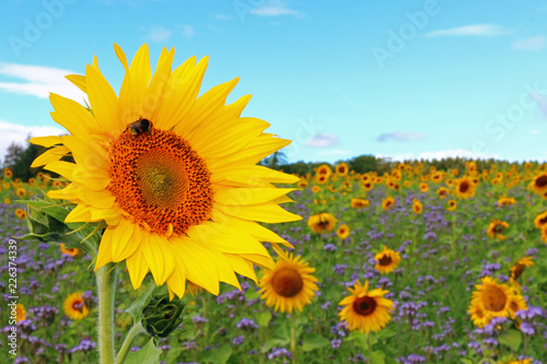
M56 127L25 127L0 120L0 158L3 161L8 146L10 146L12 142L26 148L26 140L28 136L32 138L61 136L67 133L68 132L66 130Z

